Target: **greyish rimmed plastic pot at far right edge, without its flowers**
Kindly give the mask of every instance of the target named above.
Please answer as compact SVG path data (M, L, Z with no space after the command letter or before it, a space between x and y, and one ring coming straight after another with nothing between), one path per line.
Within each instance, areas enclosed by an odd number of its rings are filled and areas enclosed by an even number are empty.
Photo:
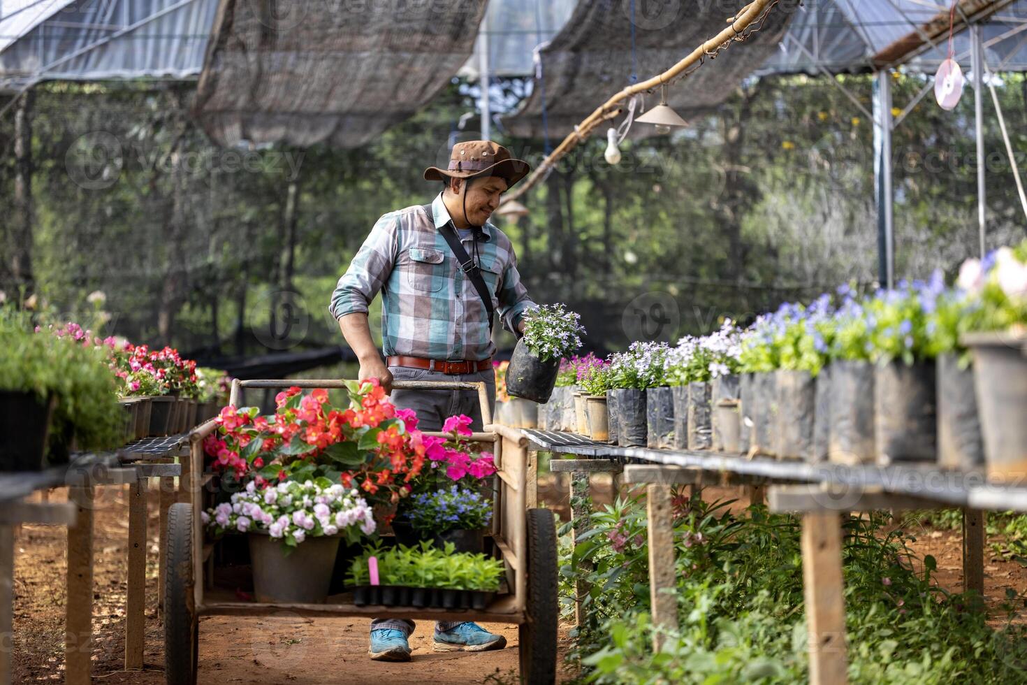
M1027 335L973 333L961 340L974 353L974 388L990 480L1027 475Z

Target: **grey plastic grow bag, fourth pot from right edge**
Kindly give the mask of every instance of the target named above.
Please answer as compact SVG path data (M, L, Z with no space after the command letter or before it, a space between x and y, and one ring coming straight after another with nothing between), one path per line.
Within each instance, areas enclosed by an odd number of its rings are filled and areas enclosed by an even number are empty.
M828 459L850 465L874 463L874 367L868 361L835 361Z

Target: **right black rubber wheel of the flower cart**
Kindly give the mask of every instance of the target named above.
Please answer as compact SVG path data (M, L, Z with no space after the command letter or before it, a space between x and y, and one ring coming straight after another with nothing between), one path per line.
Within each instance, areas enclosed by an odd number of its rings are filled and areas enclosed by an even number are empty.
M557 680L557 526L549 509L528 509L528 615L518 626L521 682Z

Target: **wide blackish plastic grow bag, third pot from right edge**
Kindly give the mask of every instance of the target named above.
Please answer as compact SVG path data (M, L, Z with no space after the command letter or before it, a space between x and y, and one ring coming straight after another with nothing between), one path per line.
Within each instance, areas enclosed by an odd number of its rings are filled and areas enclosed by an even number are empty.
M937 379L934 361L890 361L875 368L878 464L938 459Z

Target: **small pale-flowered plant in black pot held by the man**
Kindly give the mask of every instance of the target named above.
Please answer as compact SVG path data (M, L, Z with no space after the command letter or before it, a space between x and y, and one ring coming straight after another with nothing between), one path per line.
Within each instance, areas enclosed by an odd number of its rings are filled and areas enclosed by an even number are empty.
M557 382L561 357L581 346L584 328L580 315L559 303L529 309L523 316L524 336L506 371L506 391L545 404Z

